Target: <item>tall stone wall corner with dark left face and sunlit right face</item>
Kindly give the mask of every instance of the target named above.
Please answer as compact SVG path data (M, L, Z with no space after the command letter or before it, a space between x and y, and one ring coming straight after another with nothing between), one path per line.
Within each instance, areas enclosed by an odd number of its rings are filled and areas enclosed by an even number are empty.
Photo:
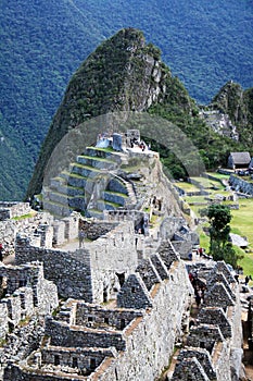
M16 236L16 263L42 261L46 278L63 297L107 302L121 288L118 276L127 276L138 265L132 221L116 225L88 249L63 251L40 247L41 239L37 246L34 243L34 238Z

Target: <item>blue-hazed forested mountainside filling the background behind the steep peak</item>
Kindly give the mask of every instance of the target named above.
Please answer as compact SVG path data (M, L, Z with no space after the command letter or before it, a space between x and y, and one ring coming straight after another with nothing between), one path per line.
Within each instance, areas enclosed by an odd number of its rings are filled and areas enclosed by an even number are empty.
M250 0L3 0L0 11L2 199L24 195L68 79L122 27L142 29L198 101L230 78L252 86Z

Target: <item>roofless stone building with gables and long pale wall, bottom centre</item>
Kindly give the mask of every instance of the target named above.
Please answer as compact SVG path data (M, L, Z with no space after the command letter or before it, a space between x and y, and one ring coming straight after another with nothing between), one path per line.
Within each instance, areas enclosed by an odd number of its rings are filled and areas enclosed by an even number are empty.
M185 263L162 242L126 274L116 299L67 299L46 319L43 345L3 379L153 380L182 335L191 293Z

